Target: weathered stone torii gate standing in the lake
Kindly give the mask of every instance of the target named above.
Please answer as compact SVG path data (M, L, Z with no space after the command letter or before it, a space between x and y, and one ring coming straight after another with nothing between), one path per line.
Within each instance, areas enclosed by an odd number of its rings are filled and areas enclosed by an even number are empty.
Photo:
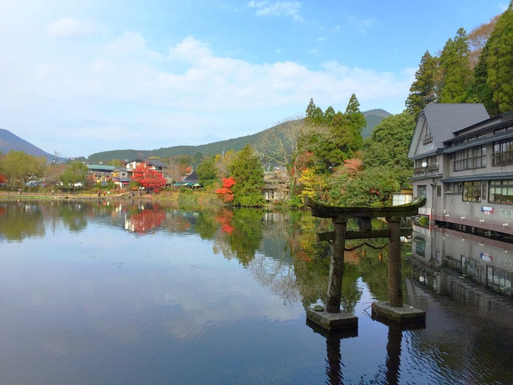
M411 306L403 306L401 280L401 236L410 236L411 227L400 228L403 217L418 214L426 198L391 207L341 207L315 202L305 197L305 205L311 208L312 216L331 218L334 230L318 235L321 241L331 241L329 264L328 299L326 311L307 309L307 319L328 331L358 327L358 318L340 311L342 274L346 239L388 238L388 303L376 303L372 311L380 316L399 322L422 321L426 313ZM385 218L386 229L372 229L371 218ZM347 231L348 218L357 218L359 230Z

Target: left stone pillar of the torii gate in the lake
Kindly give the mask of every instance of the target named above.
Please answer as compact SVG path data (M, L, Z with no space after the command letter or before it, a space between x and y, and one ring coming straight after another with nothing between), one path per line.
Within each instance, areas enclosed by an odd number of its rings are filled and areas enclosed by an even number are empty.
M340 313L340 299L342 296L342 275L344 274L344 248L346 244L347 219L333 219L335 239L331 245L331 258L329 261L328 300L326 311Z

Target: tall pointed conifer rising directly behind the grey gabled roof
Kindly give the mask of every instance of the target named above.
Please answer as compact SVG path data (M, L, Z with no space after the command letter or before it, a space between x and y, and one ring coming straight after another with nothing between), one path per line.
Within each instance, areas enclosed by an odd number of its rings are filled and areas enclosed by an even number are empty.
M449 37L440 54L443 86L440 103L460 103L472 80L469 61L468 38L463 28L458 29L454 40Z

